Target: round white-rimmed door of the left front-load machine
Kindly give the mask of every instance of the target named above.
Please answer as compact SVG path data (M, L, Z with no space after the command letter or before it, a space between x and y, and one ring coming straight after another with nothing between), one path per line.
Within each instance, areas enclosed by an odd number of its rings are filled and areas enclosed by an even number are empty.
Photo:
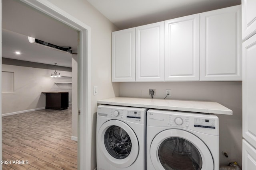
M110 120L98 131L98 147L105 159L117 168L132 165L138 157L139 143L136 134L126 123Z

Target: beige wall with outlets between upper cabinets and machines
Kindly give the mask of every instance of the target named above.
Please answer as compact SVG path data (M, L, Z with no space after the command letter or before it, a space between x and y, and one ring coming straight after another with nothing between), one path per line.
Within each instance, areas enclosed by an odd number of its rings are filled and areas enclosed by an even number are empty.
M120 83L120 96L150 98L149 88L156 89L154 98L203 100L218 102L233 115L217 115L220 124L220 164L236 161L242 165L242 82L133 82ZM228 152L226 158L221 152Z

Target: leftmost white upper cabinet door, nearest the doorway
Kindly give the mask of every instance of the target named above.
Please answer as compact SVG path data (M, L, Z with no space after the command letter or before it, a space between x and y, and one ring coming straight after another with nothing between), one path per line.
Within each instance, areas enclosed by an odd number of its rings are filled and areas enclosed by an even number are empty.
M112 32L112 82L135 82L135 28Z

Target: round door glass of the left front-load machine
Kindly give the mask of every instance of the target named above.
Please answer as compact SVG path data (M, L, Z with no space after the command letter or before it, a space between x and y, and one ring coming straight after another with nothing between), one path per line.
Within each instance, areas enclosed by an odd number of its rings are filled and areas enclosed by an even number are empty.
M132 150L130 136L119 126L110 126L106 130L104 143L108 153L116 159L126 158Z

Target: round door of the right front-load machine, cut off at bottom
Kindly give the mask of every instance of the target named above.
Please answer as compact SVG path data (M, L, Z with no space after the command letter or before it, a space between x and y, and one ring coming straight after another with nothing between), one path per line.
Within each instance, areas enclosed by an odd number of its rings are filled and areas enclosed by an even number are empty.
M212 154L204 142L180 129L158 133L150 146L150 158L156 170L214 169Z

